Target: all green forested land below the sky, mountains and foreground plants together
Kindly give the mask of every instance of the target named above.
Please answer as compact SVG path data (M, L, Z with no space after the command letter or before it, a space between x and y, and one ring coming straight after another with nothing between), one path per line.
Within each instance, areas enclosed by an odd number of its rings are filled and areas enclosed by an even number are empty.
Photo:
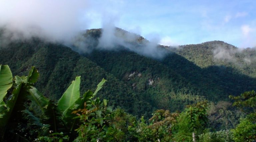
M77 39L90 39L89 53L38 37L0 44L0 141L256 140L254 48L158 45L166 55L152 58L122 45L94 49L100 36Z

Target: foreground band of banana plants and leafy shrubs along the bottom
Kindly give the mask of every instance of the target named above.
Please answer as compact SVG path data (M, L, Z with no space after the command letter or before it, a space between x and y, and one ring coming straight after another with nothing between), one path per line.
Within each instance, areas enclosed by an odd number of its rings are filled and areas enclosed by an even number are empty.
M156 110L146 123L123 109L112 110L108 101L93 93L80 96L80 76L72 81L57 103L44 97L34 83L39 76L32 67L28 76L15 76L9 66L0 65L0 140L1 141L254 141L256 140L254 91L230 96L234 106L247 114L235 129L208 132L207 101L187 106L181 113ZM27 109L33 102L43 115ZM191 136L192 133L192 136ZM223 137L224 136L224 137Z

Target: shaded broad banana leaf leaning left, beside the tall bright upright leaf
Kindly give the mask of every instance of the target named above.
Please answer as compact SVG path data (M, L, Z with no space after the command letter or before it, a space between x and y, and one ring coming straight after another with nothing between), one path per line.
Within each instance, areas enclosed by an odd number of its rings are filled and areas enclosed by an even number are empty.
M44 112L44 107L49 103L49 100L45 98L35 87L29 89L29 94L29 99L34 102L42 112Z

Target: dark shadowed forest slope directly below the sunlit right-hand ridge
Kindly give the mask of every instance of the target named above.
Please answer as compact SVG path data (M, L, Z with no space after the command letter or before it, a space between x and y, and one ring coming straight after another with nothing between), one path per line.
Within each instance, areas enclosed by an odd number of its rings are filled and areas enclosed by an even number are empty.
M232 66L209 65L201 68L177 54L166 56L161 63L203 90L204 96L214 102L228 100L229 95L240 95L256 88L255 78L241 73Z

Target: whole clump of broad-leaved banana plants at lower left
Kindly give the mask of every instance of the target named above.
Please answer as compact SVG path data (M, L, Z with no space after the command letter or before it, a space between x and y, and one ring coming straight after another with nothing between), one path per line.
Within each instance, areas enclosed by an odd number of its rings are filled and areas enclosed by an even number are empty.
M49 131L54 133L64 132L71 137L73 135L74 137L71 139L74 139L77 135L75 129L79 127L81 122L76 117L77 115L72 112L84 108L85 103L90 105L90 100L106 81L102 79L94 93L89 90L80 97L80 76L78 76L72 81L58 103L54 104L34 87L38 76L38 70L32 67L28 76L15 76L13 84L12 73L8 65L0 65L0 138L3 139L8 128L12 128L15 125L15 118L25 114L31 122L42 129L40 135L47 135ZM4 99L11 87L13 88L11 96L9 99ZM26 110L24 103L27 100L31 100L39 107L43 113L43 118L39 119ZM16 137L18 137L16 140L27 141L22 136L18 135Z

